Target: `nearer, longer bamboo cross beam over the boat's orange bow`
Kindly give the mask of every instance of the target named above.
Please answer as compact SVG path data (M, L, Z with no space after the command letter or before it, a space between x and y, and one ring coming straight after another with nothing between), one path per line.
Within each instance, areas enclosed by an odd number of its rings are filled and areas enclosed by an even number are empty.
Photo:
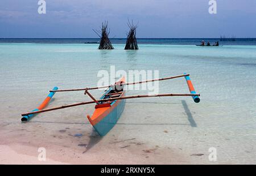
M106 98L102 100L97 100L98 102L104 102L104 101L114 101L114 100L125 100L125 99L131 99L131 98L146 98L146 97L175 97L175 96L200 96L200 94L181 94L181 93L168 93L168 94L158 94L158 95L137 95L137 96L126 96L126 97L117 97L117 98ZM32 111L30 113L24 113L22 116L31 115L31 114L39 114L44 113L47 111L57 110L57 109L64 109L64 108L71 108L73 106L80 106L80 105L86 105L86 104L93 104L95 101L87 101L87 102L80 102L77 104L70 104L70 105L63 105L56 108L49 108L44 110L38 110L38 111Z

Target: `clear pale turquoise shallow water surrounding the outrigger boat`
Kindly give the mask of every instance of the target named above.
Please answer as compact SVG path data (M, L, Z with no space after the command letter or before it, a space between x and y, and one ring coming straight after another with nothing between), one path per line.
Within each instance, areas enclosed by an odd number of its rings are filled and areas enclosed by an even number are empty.
M193 103L191 97L127 100L119 120L122 125L115 126L112 134L132 136L139 130L138 138L151 143L175 144L188 151L219 147L222 162L256 162L256 46L139 45L138 51L123 50L124 45L114 47L97 50L97 45L83 44L0 44L0 122L19 122L20 113L36 108L54 86L96 86L98 71L109 71L110 65L125 71L159 70L160 78L187 72L201 94L200 104ZM189 93L183 78L159 85L159 93ZM139 93L147 91L129 91L127 95ZM102 92L92 94L100 97ZM86 100L89 98L83 92L56 93L50 107ZM40 114L32 121L86 122L86 114L92 114L93 108ZM164 126L152 128L148 123ZM170 136L158 135L164 129ZM179 135L172 135L174 131ZM202 140L204 143L197 145Z

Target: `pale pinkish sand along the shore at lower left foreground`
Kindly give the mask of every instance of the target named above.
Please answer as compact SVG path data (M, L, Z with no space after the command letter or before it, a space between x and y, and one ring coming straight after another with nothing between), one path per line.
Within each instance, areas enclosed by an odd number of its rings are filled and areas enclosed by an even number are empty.
M82 109L80 109L82 111ZM78 110L77 110L78 111ZM137 126L119 121L101 138L87 122L73 122L50 115L44 122L13 122L1 127L1 164L179 164L189 163L180 150L152 145L138 138ZM138 125L139 126L139 125ZM162 126L162 125L159 125ZM10 130L11 129L11 130ZM126 130L130 131L129 133ZM159 132L168 135L160 127ZM154 130L155 131L155 130ZM156 131L155 131L156 132ZM171 132L171 131L170 131ZM82 136L75 136L82 134ZM142 134L143 135L143 134ZM146 135L144 136L146 138ZM38 161L38 148L46 148L47 161ZM179 154L180 153L180 154ZM162 157L165 157L164 160Z

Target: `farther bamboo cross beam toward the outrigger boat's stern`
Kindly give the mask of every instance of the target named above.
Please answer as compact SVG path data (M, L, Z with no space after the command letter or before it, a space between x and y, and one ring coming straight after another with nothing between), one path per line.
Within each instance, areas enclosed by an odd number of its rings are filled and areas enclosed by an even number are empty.
M132 84L142 84L142 83L149 83L149 82L154 82L154 81L163 81L163 80L168 80L168 79L175 79L175 78L181 78L189 76L189 74L185 75L177 75L177 76L171 76L167 78L160 78L160 79L152 79L152 80L144 80L144 81L138 81L134 83L121 83L121 84L115 84L115 85L132 85ZM93 89L102 89L102 88L109 88L109 87L114 87L115 85L106 85L102 87L93 87L93 88L81 88L81 89L63 89L63 90L51 90L49 92L71 92L71 91L85 91L87 90L93 90Z

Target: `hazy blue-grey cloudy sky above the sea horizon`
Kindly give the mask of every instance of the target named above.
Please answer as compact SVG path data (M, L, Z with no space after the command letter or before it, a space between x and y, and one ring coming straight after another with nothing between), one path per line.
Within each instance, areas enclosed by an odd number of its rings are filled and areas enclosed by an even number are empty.
M108 20L110 37L125 37L127 19L138 23L138 37L256 37L256 0L1 0L0 37L97 37Z

